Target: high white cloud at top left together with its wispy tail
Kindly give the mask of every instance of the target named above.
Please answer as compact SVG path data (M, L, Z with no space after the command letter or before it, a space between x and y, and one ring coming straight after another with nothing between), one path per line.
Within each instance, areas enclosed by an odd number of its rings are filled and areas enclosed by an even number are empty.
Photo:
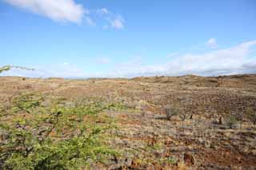
M114 14L107 8L86 10L82 4L74 0L3 0L12 6L40 14L55 22L86 22L89 26L96 26L94 20L103 19L107 22L102 27L123 29L124 19L119 14ZM86 16L85 16L86 15ZM91 18L93 17L94 20ZM98 18L97 18L98 17ZM97 21L97 20L96 20Z

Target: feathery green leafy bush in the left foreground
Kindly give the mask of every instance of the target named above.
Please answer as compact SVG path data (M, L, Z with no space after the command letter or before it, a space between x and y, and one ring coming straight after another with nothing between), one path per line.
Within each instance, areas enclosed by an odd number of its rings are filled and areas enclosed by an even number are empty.
M119 104L91 102L67 107L55 99L46 106L45 100L40 95L22 94L7 111L12 113L8 115L11 121L0 117L3 168L82 169L105 164L118 154L106 144L106 132L114 128L114 121L99 117L99 113L119 108Z

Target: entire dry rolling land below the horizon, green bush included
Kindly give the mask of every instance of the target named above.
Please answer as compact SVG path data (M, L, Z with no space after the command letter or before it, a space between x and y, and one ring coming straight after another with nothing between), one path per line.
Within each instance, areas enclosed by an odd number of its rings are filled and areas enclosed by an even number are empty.
M0 169L256 168L255 74L0 77L0 104Z

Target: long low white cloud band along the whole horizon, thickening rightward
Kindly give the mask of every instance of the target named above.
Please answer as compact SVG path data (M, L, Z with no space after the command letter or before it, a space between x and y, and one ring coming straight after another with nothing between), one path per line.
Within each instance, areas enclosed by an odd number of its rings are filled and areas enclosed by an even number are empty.
M184 74L217 76L234 73L256 73L254 47L256 47L256 40L242 42L226 49L212 49L206 53L175 53L175 57L158 65L143 65L142 57L135 57L133 60L117 63L112 71L97 74L86 73L85 70L76 65L64 63L38 68L33 66L35 71L11 69L1 75L23 77L138 77ZM102 64L109 64L110 59L102 57L98 61Z

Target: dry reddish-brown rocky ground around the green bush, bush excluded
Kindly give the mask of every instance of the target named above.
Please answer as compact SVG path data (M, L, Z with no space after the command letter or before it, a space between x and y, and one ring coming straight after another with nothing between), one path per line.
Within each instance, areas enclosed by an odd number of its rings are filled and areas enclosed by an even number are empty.
M118 128L111 130L108 144L121 156L100 169L256 169L254 74L89 80L0 77L1 107L28 92L126 105L102 113L116 121ZM169 109L176 114L167 119Z

